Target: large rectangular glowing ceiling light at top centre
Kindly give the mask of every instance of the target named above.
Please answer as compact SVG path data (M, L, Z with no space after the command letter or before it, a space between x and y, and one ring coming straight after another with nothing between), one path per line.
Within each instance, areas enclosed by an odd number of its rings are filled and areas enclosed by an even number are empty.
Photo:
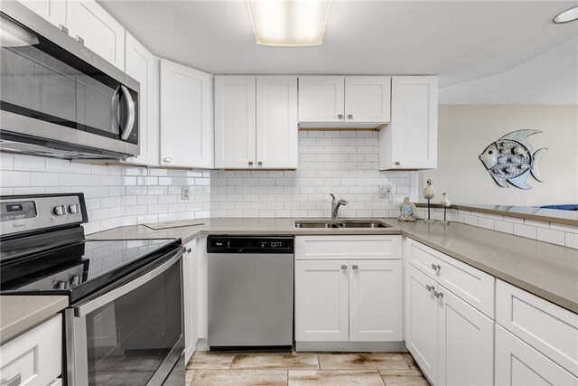
M257 44L321 45L331 0L247 0Z

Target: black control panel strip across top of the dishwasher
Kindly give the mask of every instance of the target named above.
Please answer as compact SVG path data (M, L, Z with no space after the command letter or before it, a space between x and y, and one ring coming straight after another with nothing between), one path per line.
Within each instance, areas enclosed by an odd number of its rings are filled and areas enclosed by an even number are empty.
M294 236L209 236L208 253L294 253Z

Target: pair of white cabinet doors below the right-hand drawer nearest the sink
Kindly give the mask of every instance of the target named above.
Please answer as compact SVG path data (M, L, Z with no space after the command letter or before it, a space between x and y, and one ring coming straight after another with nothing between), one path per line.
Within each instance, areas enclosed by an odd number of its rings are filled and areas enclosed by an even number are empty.
M493 343L493 320L406 263L406 347L429 381L492 384Z

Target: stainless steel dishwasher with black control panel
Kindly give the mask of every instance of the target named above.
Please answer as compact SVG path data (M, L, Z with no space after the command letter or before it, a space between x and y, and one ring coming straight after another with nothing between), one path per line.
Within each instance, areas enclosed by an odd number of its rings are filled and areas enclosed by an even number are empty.
M293 345L294 236L209 236L210 350Z

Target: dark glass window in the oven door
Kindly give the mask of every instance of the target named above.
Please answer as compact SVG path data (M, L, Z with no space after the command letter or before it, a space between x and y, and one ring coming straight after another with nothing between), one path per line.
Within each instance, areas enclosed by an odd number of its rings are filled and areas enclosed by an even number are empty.
M145 385L182 335L181 265L86 316L89 385Z

